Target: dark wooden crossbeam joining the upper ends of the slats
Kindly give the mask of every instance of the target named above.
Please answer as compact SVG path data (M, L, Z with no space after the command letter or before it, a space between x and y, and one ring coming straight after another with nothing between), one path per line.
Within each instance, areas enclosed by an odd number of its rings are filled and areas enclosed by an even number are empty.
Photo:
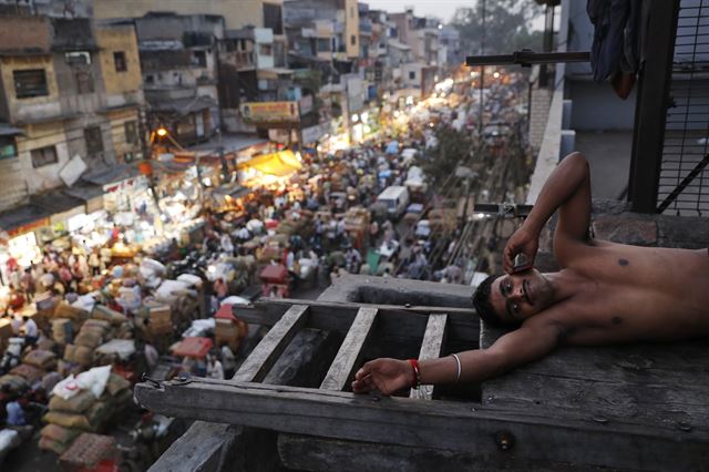
M311 301L297 299L266 298L256 302L254 308L235 308L235 315L246 322L273 326L290 305L308 305L310 317L308 328L337 331L347 335L352 320L360 308L377 308L378 336L381 338L398 337L410 341L419 340L425 330L428 316L431 312L449 314L449 337L451 341L473 342L480 340L480 320L470 308L372 305L348 301Z

